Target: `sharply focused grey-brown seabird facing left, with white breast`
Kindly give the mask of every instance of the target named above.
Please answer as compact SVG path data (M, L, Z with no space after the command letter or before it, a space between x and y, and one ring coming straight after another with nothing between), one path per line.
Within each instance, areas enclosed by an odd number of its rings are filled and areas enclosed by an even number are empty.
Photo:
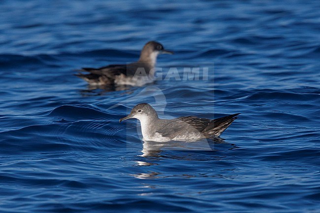
M148 103L133 107L131 113L119 120L138 119L141 123L143 140L146 141L192 141L213 139L234 121L240 113L218 119L202 119L194 116L176 119L160 119L156 110Z

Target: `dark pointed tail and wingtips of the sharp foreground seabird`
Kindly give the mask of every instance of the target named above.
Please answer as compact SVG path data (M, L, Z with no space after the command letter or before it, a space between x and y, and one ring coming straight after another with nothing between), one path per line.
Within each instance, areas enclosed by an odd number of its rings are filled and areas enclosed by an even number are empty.
M228 115L219 119L211 120L210 124L202 131L207 138L219 137L231 123L236 120L240 113Z

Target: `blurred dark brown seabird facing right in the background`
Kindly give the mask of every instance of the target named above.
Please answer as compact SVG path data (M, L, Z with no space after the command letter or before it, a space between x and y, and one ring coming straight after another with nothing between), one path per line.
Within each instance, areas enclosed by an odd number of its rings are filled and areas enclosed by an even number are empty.
M92 86L143 86L153 82L154 67L160 54L173 54L165 50L157 41L149 41L141 51L136 62L128 64L111 64L100 68L82 68L89 74L78 73L76 76L84 79Z

